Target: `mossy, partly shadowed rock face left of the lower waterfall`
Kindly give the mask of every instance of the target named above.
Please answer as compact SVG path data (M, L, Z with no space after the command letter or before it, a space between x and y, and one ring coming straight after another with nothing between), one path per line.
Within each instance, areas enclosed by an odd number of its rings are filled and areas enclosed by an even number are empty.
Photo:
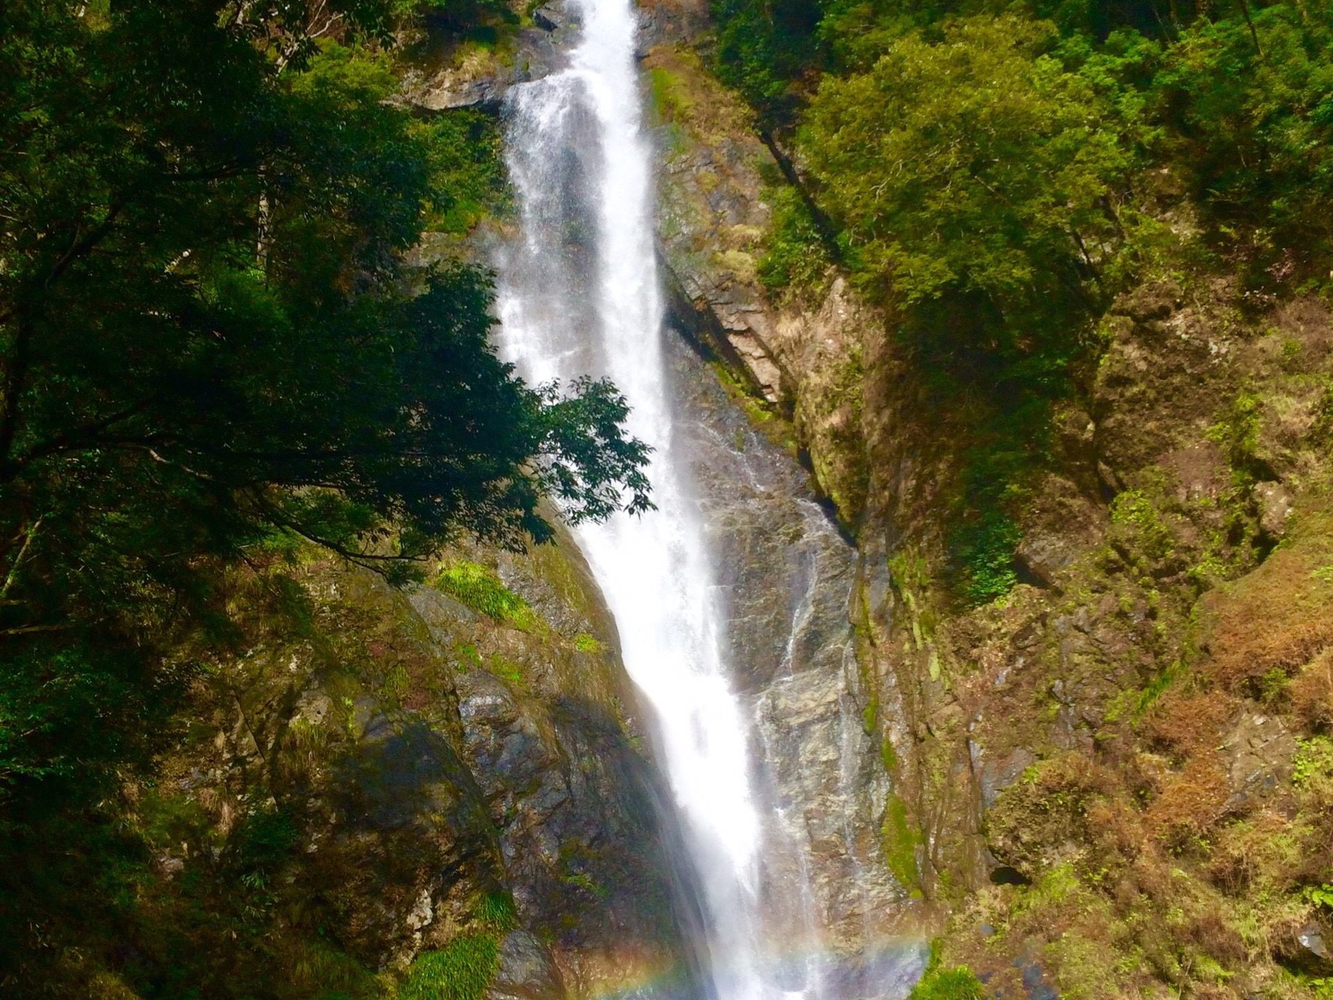
M577 551L441 565L408 592L320 557L237 581L245 652L215 663L164 765L156 799L199 815L159 868L200 877L209 843L280 817L269 939L291 961L317 924L409 983L493 940L492 997L686 989L688 872Z

